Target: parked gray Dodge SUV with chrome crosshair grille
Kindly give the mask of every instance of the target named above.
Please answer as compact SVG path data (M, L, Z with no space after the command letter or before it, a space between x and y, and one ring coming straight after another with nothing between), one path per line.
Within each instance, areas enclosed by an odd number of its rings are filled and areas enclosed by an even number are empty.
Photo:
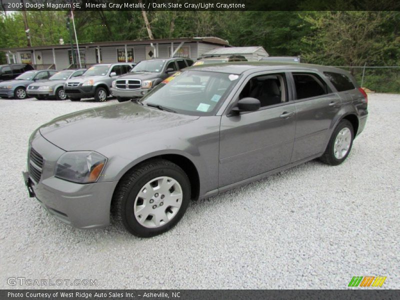
M112 82L111 94L116 96L119 102L140 98L165 78L192 64L193 60L186 57L142 60L129 73Z

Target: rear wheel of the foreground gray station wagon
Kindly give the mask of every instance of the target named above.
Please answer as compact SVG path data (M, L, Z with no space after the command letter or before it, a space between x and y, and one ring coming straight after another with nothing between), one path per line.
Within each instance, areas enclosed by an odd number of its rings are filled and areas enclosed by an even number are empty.
M338 165L342 163L348 153L350 153L353 144L354 129L348 120L341 120L329 139L329 143L320 160L330 164Z

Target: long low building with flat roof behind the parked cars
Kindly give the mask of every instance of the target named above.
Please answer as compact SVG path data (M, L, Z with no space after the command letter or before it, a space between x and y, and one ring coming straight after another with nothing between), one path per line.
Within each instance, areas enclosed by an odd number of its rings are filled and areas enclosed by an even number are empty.
M218 37L191 37L103 41L81 43L79 46L82 67L95 63L138 62L151 57L186 56L193 60L203 53L220 47L229 47L228 41ZM8 63L31 63L36 69L65 69L79 67L76 44L0 48L6 53Z

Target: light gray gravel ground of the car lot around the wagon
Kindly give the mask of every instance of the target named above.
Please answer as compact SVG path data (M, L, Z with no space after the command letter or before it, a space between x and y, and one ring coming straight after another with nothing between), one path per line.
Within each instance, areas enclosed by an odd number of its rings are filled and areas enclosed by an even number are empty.
M95 288L346 288L366 275L400 288L400 95L369 95L366 128L343 164L314 160L193 201L149 239L115 223L71 228L27 196L33 129L104 104L0 99L0 288L12 276L97 279Z

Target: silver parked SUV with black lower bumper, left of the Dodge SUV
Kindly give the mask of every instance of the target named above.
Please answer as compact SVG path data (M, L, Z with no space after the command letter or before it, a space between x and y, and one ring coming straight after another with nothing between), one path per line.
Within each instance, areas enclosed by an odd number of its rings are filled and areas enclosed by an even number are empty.
M100 63L89 67L82 76L65 81L64 91L71 101L94 97L105 101L110 94L111 82L132 68L130 63Z

